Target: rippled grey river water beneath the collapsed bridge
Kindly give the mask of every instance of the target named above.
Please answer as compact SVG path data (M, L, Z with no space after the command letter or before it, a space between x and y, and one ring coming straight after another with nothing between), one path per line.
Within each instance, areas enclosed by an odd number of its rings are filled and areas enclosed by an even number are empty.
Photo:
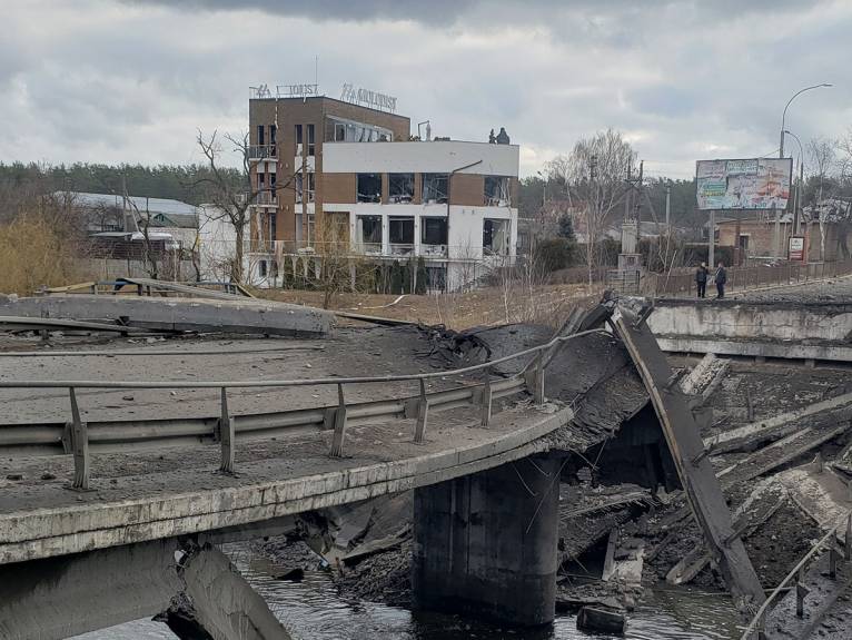
M275 580L283 570L251 555L247 547L228 545L251 587L284 622L294 640L573 640L608 639L577 631L576 618L564 616L552 627L519 631L470 622L453 616L414 614L406 609L341 600L327 574L308 571L301 582ZM630 614L627 640L733 640L736 614L724 594L655 591ZM137 620L75 637L75 640L175 640L159 622Z

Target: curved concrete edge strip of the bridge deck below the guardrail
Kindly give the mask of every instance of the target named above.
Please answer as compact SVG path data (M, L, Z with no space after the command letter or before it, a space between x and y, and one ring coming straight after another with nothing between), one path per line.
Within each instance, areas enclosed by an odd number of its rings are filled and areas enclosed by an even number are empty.
M66 489L70 456L14 459L20 481L0 491L0 563L267 521L442 482L547 447L568 408L526 405L479 427L477 407L430 416L427 442L413 420L350 426L346 459L328 456L330 432L239 441L236 477L215 472L217 446L160 449L92 460L92 491ZM11 464L0 465L2 477ZM55 477L51 477L55 476Z

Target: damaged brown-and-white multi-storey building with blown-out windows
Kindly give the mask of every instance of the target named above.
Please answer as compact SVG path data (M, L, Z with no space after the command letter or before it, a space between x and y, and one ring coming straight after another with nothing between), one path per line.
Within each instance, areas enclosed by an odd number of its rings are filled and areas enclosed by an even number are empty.
M430 289L514 260L517 146L412 139L408 118L326 97L251 99L249 120L252 284L280 286L285 259L319 273L331 253L423 257Z

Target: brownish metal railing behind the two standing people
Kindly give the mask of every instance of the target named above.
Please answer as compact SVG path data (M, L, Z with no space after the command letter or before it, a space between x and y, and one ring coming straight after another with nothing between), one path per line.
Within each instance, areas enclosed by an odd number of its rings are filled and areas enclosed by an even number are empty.
M713 272L711 272L712 275ZM753 288L794 285L811 280L821 280L852 274L852 260L834 263L761 265L754 267L730 267L727 269L726 292ZM707 283L712 287L712 283ZM683 293L695 293L695 272L652 274L643 278L644 295L662 297Z

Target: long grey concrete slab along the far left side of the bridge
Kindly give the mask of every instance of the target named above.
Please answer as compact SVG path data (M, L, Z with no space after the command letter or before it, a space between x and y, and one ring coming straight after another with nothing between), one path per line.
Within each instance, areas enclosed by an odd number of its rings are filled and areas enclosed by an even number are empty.
M56 295L6 299L0 315L119 322L128 327L177 332L325 335L333 315L323 309L259 301Z

